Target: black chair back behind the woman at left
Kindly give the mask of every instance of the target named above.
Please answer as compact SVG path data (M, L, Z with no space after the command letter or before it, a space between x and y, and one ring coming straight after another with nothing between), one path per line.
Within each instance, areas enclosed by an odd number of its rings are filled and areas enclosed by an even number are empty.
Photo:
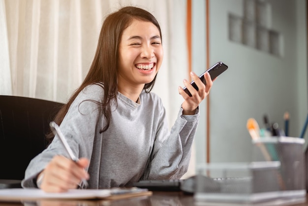
M49 123L62 105L0 96L0 188L21 187L29 162L46 148Z

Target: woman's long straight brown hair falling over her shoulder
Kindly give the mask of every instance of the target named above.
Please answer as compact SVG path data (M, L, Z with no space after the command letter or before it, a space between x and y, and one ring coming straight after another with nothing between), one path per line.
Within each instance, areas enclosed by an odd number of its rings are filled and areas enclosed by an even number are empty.
M153 23L159 31L161 37L160 26L155 17L148 11L127 6L120 10L108 15L101 27L99 34L97 49L90 67L89 73L84 79L80 87L72 94L68 102L60 109L55 117L55 122L60 125L68 108L74 102L77 95L88 85L98 84L103 87L104 95L101 105L101 111L106 117L106 126L100 132L104 132L109 128L111 116L111 101L117 100L118 92L118 64L119 64L119 45L122 37L123 30L127 28L133 20L142 20ZM149 93L155 82L156 76L153 81L145 84L144 90ZM91 101L91 100L90 100ZM117 102L117 101L115 101ZM54 135L49 133L47 141L50 143Z

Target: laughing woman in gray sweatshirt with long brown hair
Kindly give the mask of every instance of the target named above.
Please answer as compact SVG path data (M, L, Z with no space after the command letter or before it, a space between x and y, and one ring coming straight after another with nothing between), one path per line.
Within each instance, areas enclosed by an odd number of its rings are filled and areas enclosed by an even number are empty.
M87 188L131 186L139 180L180 179L189 164L199 119L198 105L213 85L191 73L199 90L184 80L184 102L168 131L165 109L151 93L163 59L154 16L137 7L110 14L101 28L90 71L58 113L72 161L56 135L26 170L23 187L63 192L88 180Z

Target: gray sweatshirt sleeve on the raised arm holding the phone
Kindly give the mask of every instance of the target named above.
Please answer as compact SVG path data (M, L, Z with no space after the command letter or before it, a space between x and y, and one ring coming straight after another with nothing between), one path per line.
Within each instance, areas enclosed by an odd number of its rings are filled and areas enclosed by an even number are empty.
M175 124L168 135L165 110L157 130L151 160L143 179L176 180L188 169L193 138L199 120L199 107L194 115L183 115L181 107Z

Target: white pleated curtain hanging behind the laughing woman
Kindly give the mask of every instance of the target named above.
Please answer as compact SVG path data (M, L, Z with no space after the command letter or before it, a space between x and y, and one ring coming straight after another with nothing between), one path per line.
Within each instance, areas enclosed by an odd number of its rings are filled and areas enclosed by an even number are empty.
M186 0L0 0L0 95L65 103L90 68L104 17L126 5L150 11L161 26L153 92L172 126L183 102L177 87L188 79Z

